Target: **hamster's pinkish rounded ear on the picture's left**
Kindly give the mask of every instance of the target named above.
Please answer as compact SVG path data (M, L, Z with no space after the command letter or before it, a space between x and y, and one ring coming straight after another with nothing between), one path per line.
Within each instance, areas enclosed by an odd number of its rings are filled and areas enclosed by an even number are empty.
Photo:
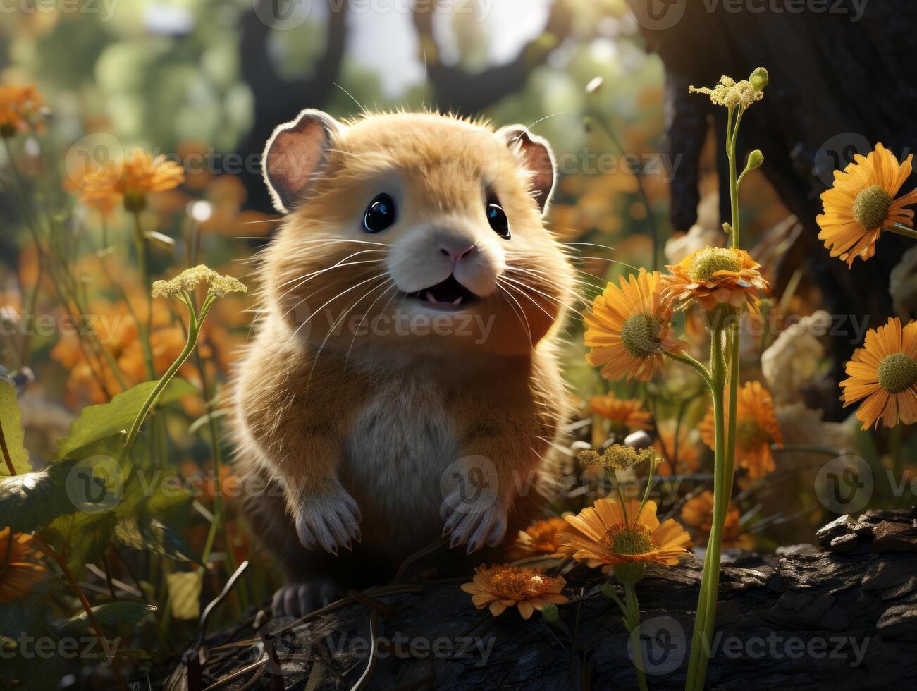
M289 213L326 162L331 141L342 130L334 117L306 108L274 130L264 148L261 171L274 208Z

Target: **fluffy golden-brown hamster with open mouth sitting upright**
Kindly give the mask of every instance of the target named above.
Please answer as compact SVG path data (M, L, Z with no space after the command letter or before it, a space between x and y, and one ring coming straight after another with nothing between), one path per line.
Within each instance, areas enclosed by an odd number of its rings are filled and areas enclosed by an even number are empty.
M447 572L497 558L537 518L569 413L574 271L543 222L549 145L522 126L310 109L262 162L286 216L260 256L232 417L246 517L289 583L275 612L389 582L443 537Z

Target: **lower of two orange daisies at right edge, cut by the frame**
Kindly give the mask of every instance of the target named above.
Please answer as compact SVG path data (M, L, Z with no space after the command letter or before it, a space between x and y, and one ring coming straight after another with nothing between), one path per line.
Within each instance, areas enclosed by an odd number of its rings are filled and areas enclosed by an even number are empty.
M917 321L902 328L892 318L869 329L846 370L841 400L844 407L863 401L856 411L863 429L878 428L879 420L885 427L917 422Z

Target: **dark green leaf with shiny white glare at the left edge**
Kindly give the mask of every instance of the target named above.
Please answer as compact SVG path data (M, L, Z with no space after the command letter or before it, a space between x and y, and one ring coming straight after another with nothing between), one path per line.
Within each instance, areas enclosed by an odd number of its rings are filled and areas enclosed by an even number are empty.
M0 478L0 527L31 532L76 511L67 492L68 477L75 464L55 463L43 471Z

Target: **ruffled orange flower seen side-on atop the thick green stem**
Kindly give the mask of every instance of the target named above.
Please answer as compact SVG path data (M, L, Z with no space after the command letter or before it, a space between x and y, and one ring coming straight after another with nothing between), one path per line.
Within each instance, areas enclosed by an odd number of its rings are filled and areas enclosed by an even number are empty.
M685 307L697 302L707 311L719 305L747 306L757 314L758 296L770 290L758 273L761 265L745 250L707 247L666 268L671 275L663 276L660 285L668 305Z

